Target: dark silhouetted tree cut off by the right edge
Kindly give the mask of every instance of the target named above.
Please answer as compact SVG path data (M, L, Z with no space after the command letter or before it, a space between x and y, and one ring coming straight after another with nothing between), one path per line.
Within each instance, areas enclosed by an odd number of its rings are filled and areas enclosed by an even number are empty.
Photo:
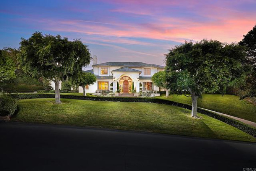
M248 96L256 96L256 25L244 35L239 45L246 47L245 64L252 68L247 74L246 85L241 89L245 90Z

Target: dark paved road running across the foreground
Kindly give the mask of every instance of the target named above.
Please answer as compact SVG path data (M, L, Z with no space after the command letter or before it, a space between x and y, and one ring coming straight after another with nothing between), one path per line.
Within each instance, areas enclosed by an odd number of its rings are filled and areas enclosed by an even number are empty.
M0 170L243 171L256 144L108 129L0 123Z

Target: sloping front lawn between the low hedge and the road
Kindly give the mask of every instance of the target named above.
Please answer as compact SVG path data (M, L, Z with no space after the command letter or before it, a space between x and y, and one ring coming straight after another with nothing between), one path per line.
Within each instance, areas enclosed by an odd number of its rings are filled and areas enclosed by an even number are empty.
M256 142L256 138L224 122L187 109L155 103L102 102L61 99L19 100L12 121L92 126Z

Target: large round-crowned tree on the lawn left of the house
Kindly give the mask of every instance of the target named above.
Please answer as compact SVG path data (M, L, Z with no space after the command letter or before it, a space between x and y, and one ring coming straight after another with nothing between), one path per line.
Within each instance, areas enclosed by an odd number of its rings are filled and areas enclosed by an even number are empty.
M69 41L60 35L35 32L20 42L19 67L32 77L44 77L55 83L55 102L60 104L60 80L82 71L89 65L91 54L79 39Z

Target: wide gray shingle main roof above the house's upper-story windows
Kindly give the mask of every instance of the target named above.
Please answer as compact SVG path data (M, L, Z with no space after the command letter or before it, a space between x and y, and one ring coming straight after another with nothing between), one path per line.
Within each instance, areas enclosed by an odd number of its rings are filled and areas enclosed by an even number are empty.
M115 66L115 67L157 67L157 68L164 68L160 65L154 65L154 64L147 64L143 62L105 62L105 63L99 63L94 66Z

